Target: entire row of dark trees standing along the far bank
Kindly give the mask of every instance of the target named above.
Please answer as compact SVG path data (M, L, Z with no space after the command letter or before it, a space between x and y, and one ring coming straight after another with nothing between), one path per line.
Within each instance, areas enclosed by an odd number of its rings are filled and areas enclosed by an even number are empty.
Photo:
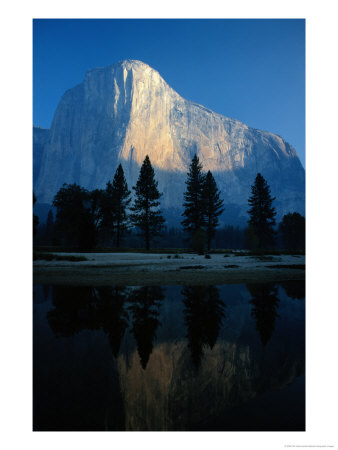
M187 173L182 230L165 226L160 210L162 193L148 155L132 189L133 202L121 164L105 189L89 191L77 184L64 184L53 200L55 221L50 210L44 235L52 244L80 250L91 250L98 244L120 248L126 238L129 243L141 239L147 250L154 240L161 238L168 247L189 245L199 253L209 251L212 242L223 248L268 249L276 244L287 249L305 248L305 218L289 213L276 228L275 198L271 197L270 187L261 174L257 174L251 187L249 221L244 230L231 225L219 228L224 201L212 173L203 172L197 155ZM34 216L34 235L37 229L38 220Z

